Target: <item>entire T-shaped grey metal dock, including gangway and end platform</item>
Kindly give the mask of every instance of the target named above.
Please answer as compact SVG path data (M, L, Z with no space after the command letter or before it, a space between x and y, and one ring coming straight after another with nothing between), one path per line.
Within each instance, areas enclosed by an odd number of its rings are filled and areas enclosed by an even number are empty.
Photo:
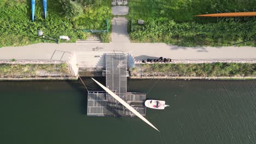
M146 93L127 92L127 53L106 53L106 87L117 94L142 116L146 116ZM135 116L106 92L88 92L88 116Z

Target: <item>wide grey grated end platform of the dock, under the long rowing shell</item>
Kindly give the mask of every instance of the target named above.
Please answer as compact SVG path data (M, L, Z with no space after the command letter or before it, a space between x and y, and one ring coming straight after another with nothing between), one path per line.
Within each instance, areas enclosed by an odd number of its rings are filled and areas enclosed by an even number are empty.
M126 93L124 96L126 103L130 104L135 110L146 116L146 100L145 93ZM106 92L88 92L88 116L135 116L130 110L127 110L123 105L116 101L106 100Z

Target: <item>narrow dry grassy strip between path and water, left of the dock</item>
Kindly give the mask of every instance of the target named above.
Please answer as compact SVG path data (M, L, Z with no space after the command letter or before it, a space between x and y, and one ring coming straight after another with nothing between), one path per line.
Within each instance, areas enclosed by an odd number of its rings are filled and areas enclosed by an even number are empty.
M62 64L0 64L0 77L37 77L37 71L70 75L66 63Z

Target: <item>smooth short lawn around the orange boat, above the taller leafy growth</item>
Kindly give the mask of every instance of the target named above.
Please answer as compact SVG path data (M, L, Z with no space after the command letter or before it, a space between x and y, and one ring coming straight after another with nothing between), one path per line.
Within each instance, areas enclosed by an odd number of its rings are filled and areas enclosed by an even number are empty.
M207 18L194 17L199 14L216 13L216 10L252 10L254 0L130 0L129 17L155 20L165 17L177 22L205 21ZM207 19L208 21L209 19ZM211 19L216 21L216 19Z

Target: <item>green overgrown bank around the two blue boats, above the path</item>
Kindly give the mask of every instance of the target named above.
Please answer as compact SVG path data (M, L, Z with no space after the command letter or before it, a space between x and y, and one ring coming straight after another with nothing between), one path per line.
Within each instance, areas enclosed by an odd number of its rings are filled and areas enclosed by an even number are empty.
M0 47L19 46L34 43L54 43L40 39L37 31L45 35L59 38L67 35L69 42L85 39L88 33L75 29L106 29L106 19L112 18L110 0L83 1L69 0L48 1L47 19L43 19L42 1L36 1L36 20L31 21L30 0L0 1ZM102 34L104 42L108 42L108 34ZM64 42L64 41L61 41Z

